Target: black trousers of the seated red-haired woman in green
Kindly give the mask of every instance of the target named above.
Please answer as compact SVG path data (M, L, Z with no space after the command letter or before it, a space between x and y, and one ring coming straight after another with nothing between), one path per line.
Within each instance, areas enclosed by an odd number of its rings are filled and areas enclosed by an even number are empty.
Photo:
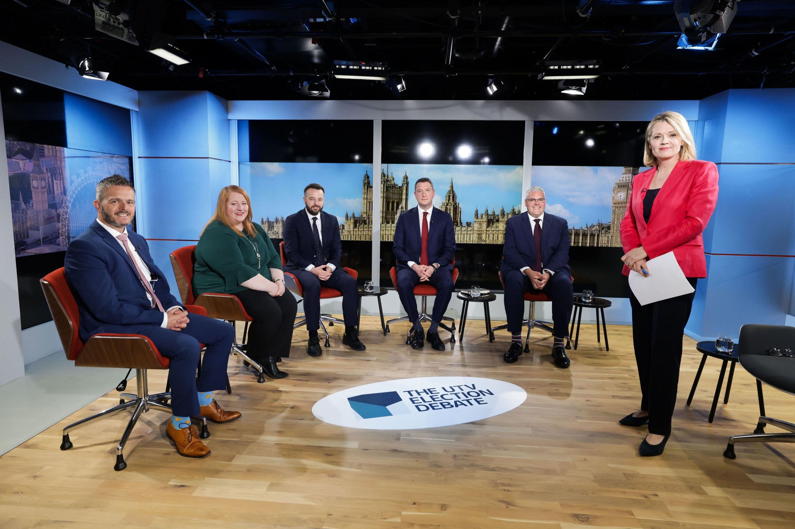
M265 357L289 357L293 342L293 324L298 303L289 291L273 297L259 290L244 290L235 294L251 318L246 352L254 360Z

